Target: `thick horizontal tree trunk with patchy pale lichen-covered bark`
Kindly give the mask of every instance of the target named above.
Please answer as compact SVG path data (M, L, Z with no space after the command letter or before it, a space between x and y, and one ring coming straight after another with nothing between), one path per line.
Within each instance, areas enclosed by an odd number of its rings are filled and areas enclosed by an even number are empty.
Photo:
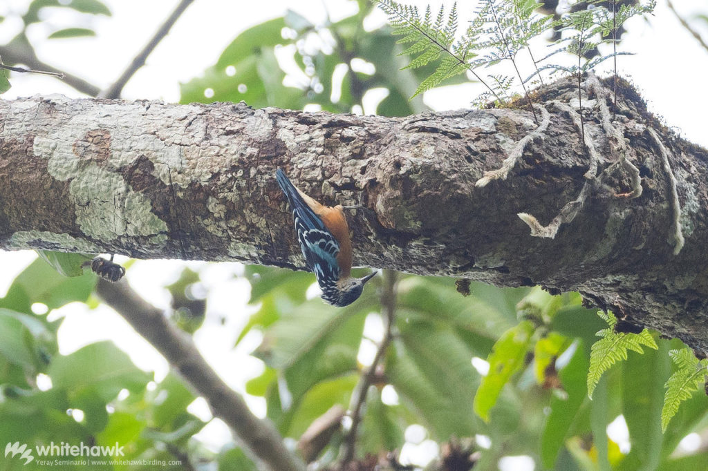
M35 97L0 101L0 247L241 260L302 267L278 166L313 197L362 204L350 214L355 264L450 275L499 286L579 290L628 322L708 351L708 156L646 113L629 87L612 124L628 139L641 196L583 99L600 154L589 197L555 238L530 235L518 213L547 224L588 181L576 125L551 113L506 179L484 187L537 124L519 109L406 118L305 113L244 104ZM668 151L685 246L674 255ZM611 139L615 139L611 136ZM616 147L616 143L615 143Z

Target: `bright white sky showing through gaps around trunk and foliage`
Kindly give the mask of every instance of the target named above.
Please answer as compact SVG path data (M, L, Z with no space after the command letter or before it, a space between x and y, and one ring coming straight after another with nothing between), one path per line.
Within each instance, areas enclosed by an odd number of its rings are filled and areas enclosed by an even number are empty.
M113 12L111 17L81 16L68 8L53 8L47 22L34 25L28 32L43 61L64 71L80 76L99 87L108 86L117 78L132 57L142 49L177 0L104 0ZM409 1L423 5L423 1ZM708 5L701 7L693 0L674 0L684 17L692 13L708 13ZM1 0L0 16L8 12L23 12L28 0ZM433 5L439 5L434 1ZM445 1L447 6L451 1ZM459 11L470 11L474 1L458 1ZM200 71L214 64L224 47L242 30L270 18L282 15L287 7L297 10L314 23L324 20L324 5L336 20L355 11L355 2L346 0L261 0L228 1L196 0L171 33L147 59L147 66L138 71L123 91L126 99L161 99L176 101L179 83L186 82ZM383 15L377 13L382 20ZM94 28L97 37L47 40L54 30L75 26L85 21ZM464 16L461 14L461 20ZM623 37L622 50L635 52L634 56L619 57L620 74L631 76L641 93L649 101L651 110L663 115L666 123L683 136L703 146L708 146L708 133L703 113L708 76L708 53L693 37L680 27L673 13L662 0L649 23L632 21L629 33ZM704 37L708 37L705 23L694 23ZM20 25L10 19L0 23L0 43L11 39ZM606 66L609 66L607 62ZM605 67L606 67L605 66ZM13 88L2 98L12 99L50 93L63 93L70 97L80 94L56 79L30 74L14 74ZM450 87L426 94L426 103L436 110L453 109L467 105L474 98L476 85ZM461 102L460 96L469 95ZM0 296L4 296L11 280L33 258L34 252L0 252ZM147 300L160 308L167 308L169 296L162 288L176 279L183 264L177 261L137 262L128 271L128 279ZM236 264L190 263L201 269L202 280L212 290L209 312L204 327L195 335L195 342L224 380L236 390L243 391L246 378L260 370L259 361L250 357L249 349L256 347L258 335L247 339L243 347L232 349L234 339L244 324L248 313L245 303L248 287L232 274ZM53 316L64 315L66 320L59 330L62 353L67 354L100 339L113 339L130 354L135 364L149 371L156 371L157 379L166 374L166 362L141 337L137 336L120 316L108 308L89 311L83 305L69 305ZM227 318L221 325L219 319ZM265 403L260 398L247 398L249 405L263 416ZM208 418L205 404L195 404L193 410ZM218 421L202 433L202 438L212 446L231 440L228 430Z

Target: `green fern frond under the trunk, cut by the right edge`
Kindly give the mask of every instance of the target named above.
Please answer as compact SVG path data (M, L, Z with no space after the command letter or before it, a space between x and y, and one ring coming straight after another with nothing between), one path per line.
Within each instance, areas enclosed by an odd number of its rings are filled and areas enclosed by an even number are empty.
M666 395L661 408L661 431L666 431L681 402L690 399L694 392L702 388L708 373L708 359L699 361L690 349L671 350L668 354L678 366L678 371L664 385Z

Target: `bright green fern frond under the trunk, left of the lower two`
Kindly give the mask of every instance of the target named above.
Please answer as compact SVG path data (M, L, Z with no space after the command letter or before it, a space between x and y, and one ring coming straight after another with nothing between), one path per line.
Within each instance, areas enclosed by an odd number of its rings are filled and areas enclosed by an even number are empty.
M632 350L640 354L644 353L642 346L658 349L656 341L648 330L644 329L639 334L631 332L615 332L617 318L607 311L598 312L600 318L607 322L607 328L600 330L596 335L603 337L590 348L590 369L588 371L588 397L593 398L595 386L600 382L603 373L609 370L617 361L627 359L627 351Z

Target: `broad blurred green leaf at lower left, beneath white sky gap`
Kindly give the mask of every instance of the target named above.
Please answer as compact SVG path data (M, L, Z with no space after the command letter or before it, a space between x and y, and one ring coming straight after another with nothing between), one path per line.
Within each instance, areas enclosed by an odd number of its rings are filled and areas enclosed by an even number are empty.
M143 390L152 374L137 368L130 357L113 342L96 342L74 353L57 356L47 371L54 388L64 388L79 395L93 388L101 400L114 400L118 392Z

